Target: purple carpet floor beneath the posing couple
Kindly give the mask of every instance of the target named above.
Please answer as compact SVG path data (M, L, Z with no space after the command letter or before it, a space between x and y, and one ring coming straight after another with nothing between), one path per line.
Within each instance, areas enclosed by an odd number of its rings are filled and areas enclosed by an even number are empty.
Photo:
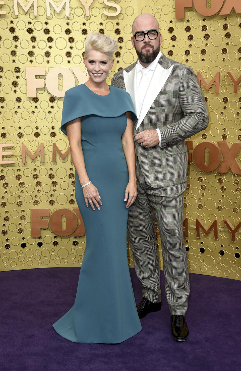
M76 344L52 324L74 303L79 268L0 272L1 371L240 371L240 281L190 274L186 320L190 337L170 336L170 313L141 320L142 331L121 344ZM141 285L131 269L136 302Z

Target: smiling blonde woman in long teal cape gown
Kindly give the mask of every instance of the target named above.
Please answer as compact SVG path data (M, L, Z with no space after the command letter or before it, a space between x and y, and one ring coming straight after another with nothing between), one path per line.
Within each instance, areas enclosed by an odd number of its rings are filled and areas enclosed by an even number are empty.
M61 130L76 168L86 249L75 303L53 327L73 342L120 343L141 331L126 252L128 207L137 195L136 115L129 94L106 84L117 48L108 36L86 38L90 78L69 89L63 103Z

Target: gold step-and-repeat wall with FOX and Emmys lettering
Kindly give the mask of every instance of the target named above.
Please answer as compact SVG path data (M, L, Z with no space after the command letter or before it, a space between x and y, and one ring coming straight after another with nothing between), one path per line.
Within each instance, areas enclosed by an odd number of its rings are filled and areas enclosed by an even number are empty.
M0 270L81 265L86 237L59 130L63 96L88 79L90 32L118 40L112 74L136 60L131 25L140 13L158 20L164 54L197 73L209 111L208 128L186 141L190 272L241 279L239 0L0 1ZM158 229L156 238L162 269ZM133 267L128 243L127 251Z

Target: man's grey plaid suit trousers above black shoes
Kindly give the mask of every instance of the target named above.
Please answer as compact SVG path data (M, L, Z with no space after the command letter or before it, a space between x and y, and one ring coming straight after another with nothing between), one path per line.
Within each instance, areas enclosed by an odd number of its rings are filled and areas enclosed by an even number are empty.
M171 315L185 315L189 296L188 261L182 233L183 194L186 183L152 188L143 177L137 158L138 196L129 209L128 237L142 296L161 301L155 217L162 243L165 291Z

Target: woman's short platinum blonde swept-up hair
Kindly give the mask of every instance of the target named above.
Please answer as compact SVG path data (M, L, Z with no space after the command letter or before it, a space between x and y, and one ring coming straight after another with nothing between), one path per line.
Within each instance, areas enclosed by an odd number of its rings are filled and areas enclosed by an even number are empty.
M111 60L117 49L117 41L99 32L92 32L85 39L85 58L88 57L90 50L98 50L98 52L106 54Z

